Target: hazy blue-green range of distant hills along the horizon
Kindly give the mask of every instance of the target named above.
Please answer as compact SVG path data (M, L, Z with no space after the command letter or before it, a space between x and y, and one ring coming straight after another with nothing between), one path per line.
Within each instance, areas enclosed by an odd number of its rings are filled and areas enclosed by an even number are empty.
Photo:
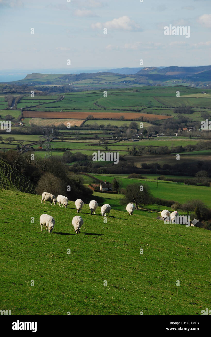
M138 71L137 71L138 70ZM142 86L191 87L211 85L211 65L199 67L142 67L116 68L101 72L80 74L28 74L23 80L10 83L26 85L64 85L71 90L115 89Z

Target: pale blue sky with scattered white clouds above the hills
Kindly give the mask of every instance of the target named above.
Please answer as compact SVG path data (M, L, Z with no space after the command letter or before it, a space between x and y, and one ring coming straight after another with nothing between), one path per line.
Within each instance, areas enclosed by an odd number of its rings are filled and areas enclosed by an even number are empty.
M0 30L1 70L211 64L211 0L0 0Z

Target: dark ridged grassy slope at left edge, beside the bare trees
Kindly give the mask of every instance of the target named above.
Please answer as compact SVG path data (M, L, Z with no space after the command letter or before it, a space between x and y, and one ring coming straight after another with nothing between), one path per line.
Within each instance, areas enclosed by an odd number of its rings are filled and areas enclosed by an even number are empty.
M0 160L0 188L33 193L34 185L16 168Z

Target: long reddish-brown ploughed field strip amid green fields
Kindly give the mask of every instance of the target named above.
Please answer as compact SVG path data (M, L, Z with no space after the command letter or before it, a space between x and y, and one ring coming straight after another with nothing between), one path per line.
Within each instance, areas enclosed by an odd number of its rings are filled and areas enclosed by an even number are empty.
M172 118L171 116L154 115L154 114L140 114L134 112L59 112L59 111L23 111L25 118L57 118L57 119L86 119L87 116L92 115L94 118L120 118L124 116L125 119L133 119L146 117L148 120L160 120Z

